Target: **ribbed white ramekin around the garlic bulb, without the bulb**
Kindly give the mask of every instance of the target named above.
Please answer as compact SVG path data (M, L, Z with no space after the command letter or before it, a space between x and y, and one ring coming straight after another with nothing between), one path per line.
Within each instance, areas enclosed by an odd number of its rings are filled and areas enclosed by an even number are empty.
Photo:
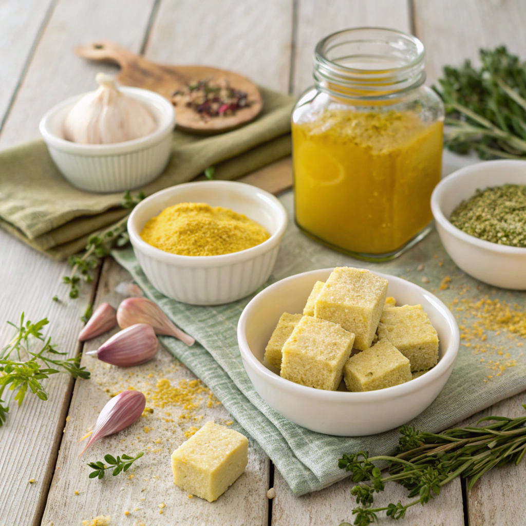
M157 121L153 133L115 144L79 144L64 139L64 119L86 94L57 104L40 122L41 134L60 173L81 190L108 193L137 188L160 175L170 158L174 107L164 97L147 89L119 89L150 109Z

